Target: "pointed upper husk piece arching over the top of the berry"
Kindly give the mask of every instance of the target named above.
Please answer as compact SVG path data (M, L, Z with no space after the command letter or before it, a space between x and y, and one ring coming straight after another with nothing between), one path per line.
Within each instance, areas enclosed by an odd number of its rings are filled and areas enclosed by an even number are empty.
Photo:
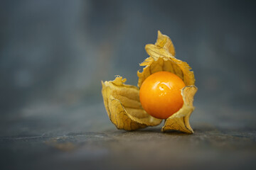
M171 39L158 32L156 44L148 44L145 47L150 57L146 58L140 66L146 66L143 72L137 72L139 77L138 86L142 86L143 81L155 72L172 72L180 77L186 86L194 85L195 78L191 71L191 67L186 62L178 60L174 57L175 50Z

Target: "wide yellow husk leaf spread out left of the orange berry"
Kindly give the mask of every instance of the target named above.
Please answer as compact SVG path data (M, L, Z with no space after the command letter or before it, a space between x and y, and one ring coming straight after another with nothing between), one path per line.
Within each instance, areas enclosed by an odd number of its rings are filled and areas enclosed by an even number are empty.
M139 101L137 86L124 84L126 79L116 77L114 81L102 81L102 96L107 114L117 129L137 130L161 123L146 113Z

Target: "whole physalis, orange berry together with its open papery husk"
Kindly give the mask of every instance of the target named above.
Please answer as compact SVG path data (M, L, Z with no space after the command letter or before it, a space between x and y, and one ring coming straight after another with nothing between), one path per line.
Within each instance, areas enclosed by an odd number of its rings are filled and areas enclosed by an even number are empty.
M193 133L189 118L196 94L194 74L186 62L176 59L171 39L158 32L155 44L145 47L149 57L140 64L138 86L114 81L102 81L102 96L112 123L117 129L137 130L159 125L165 119L162 132L179 130Z

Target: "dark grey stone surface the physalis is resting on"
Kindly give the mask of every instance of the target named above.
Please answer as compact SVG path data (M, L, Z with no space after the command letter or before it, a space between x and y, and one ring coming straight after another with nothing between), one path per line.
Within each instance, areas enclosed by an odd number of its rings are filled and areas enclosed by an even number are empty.
M227 121L209 107L191 116L193 135L117 130L102 103L25 109L1 122L1 169L255 169L255 116Z

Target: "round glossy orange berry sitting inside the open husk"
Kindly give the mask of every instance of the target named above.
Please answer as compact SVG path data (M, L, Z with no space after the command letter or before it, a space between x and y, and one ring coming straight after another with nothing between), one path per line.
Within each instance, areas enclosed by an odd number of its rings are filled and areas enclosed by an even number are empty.
M154 118L169 118L183 106L181 89L184 86L182 79L171 72L151 74L139 89L142 108Z

